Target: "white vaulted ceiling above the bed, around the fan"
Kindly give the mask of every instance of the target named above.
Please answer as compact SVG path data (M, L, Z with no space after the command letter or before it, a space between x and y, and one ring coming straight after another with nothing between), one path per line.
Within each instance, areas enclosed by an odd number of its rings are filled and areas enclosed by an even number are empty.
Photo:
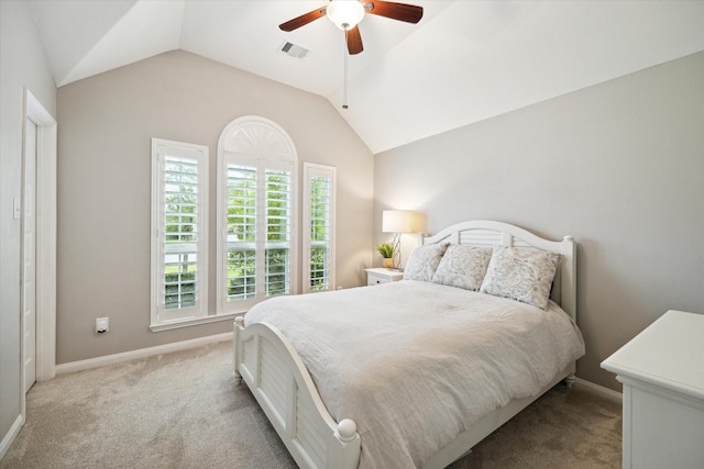
M373 153L704 51L703 1L404 0L418 24L367 14L349 57L326 0L32 1L56 85L184 49L327 98ZM282 52L286 42L305 58Z

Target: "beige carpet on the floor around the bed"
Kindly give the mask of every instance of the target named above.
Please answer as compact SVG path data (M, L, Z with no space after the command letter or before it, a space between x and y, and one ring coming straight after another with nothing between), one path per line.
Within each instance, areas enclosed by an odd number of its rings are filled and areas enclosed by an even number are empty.
M246 387L230 343L37 383L9 468L295 468ZM620 405L558 386L460 468L618 468Z

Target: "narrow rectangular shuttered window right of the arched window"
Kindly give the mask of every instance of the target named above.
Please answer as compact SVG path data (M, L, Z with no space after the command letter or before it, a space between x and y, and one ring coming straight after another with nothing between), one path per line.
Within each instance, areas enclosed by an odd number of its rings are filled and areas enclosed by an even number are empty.
M336 168L304 163L304 292L334 289Z

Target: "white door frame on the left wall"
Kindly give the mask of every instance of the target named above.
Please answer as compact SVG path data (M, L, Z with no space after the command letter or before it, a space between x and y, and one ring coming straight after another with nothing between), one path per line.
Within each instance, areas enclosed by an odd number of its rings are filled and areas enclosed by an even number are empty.
M36 381L56 376L56 120L24 89L24 119L22 120L22 194L24 194L26 120L36 124ZM24 196L22 196L24 198ZM24 200L22 201L24 206ZM24 233L24 217L22 217ZM21 259L24 259L22 236ZM21 276L24 280L24 263ZM21 282L21 288L24 281ZM21 292L23 293L23 292ZM23 303L23 295L20 302ZM21 364L24 364L24 304L21 312ZM21 367L22 414L25 413L24 366Z

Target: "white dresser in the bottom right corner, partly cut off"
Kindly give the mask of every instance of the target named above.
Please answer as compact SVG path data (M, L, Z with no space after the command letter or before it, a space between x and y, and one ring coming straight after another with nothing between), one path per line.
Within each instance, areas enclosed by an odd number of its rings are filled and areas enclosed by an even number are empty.
M624 468L704 468L704 314L668 311L602 368L624 384Z

